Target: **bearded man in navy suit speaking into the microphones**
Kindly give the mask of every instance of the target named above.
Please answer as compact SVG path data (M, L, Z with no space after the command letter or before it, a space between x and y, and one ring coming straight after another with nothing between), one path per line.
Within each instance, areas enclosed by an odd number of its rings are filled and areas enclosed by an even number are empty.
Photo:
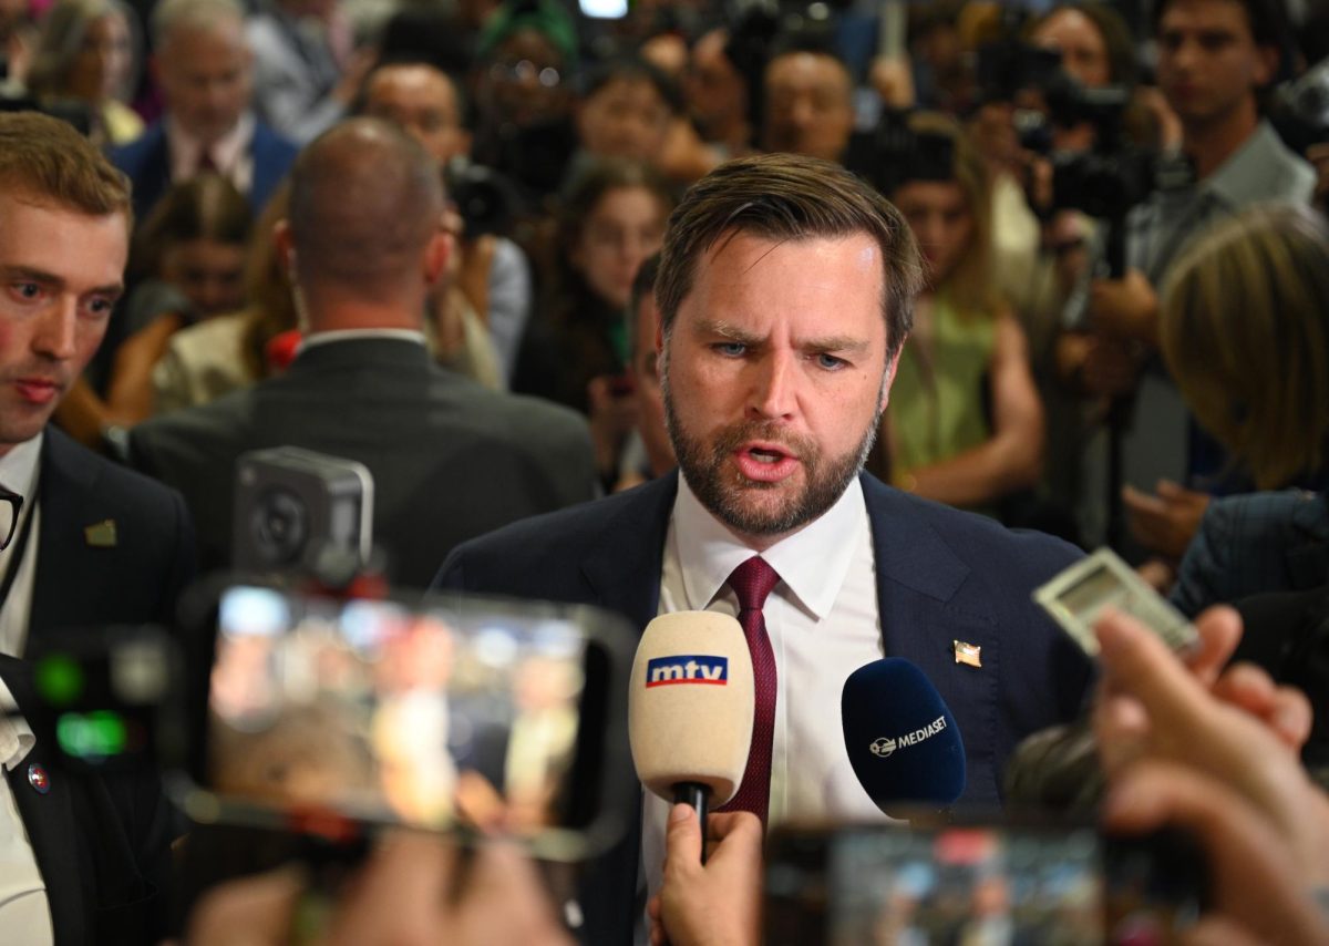
M462 545L437 583L599 605L645 627L735 614L728 583L760 558L775 574L762 607L776 676L768 821L881 817L839 707L845 678L882 655L921 667L954 713L961 801L998 804L1011 748L1070 719L1091 679L1030 601L1078 553L861 473L921 284L905 221L848 171L789 154L719 167L670 219L655 284L682 476ZM646 799L651 889L667 810ZM587 941L626 942L635 850L630 838L589 876Z

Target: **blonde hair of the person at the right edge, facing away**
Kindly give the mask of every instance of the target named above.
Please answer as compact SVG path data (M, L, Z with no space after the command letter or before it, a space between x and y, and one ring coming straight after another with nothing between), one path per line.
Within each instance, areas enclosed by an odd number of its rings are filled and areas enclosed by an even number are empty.
M1174 267L1160 343L1196 420L1256 489L1324 480L1329 438L1329 229L1255 207Z

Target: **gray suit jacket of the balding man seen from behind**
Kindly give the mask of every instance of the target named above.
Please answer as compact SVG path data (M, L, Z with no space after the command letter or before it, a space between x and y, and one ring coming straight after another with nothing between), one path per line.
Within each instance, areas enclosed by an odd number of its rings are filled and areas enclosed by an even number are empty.
M486 391L399 339L332 341L258 385L134 428L130 464L175 486L194 513L205 567L230 561L235 460L294 445L373 473L375 541L389 578L424 587L457 543L589 500L586 423L538 400Z

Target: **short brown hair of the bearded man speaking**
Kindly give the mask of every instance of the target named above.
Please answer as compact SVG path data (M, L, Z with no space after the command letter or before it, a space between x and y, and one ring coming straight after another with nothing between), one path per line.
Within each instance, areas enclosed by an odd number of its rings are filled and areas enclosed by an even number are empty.
M922 264L909 225L870 185L844 167L801 154L763 154L720 165L698 181L670 217L655 283L668 335L692 288L698 260L719 240L872 236L881 248L881 312L893 356L913 327Z

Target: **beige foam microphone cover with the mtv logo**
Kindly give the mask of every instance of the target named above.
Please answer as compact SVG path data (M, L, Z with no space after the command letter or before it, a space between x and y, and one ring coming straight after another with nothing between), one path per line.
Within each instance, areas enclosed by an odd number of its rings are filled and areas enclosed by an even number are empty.
M706 682L722 659L724 682ZM711 788L712 806L732 799L747 767L752 711L752 656L738 620L678 611L646 626L627 698L633 764L646 788L672 801L674 785L692 781Z

